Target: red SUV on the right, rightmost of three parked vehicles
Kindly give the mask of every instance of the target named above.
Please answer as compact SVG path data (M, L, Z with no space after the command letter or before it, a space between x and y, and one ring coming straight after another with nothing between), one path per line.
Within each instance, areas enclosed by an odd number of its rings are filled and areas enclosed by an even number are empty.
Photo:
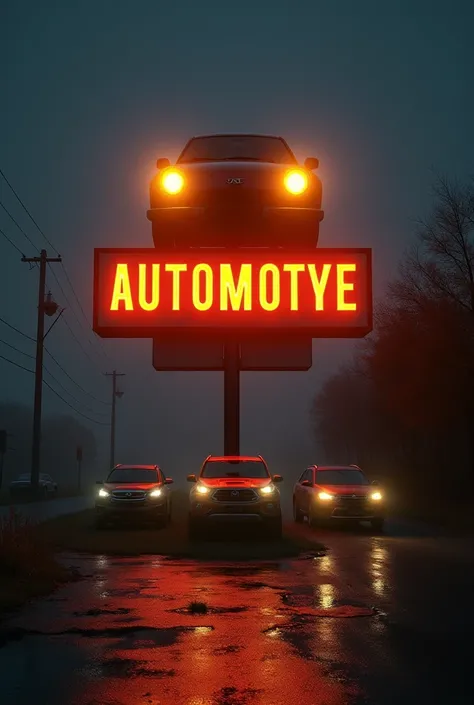
M383 529L383 493L357 465L310 465L293 488L293 518L311 526L324 519L369 521Z

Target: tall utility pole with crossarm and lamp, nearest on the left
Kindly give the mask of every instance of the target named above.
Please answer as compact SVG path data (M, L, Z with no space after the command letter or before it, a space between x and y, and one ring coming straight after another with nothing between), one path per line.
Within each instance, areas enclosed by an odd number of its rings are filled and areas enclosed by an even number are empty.
M39 257L22 257L22 262L39 264L38 288L38 323L36 331L36 365L35 365L35 401L33 408L33 443L31 449L31 489L38 494L39 471L41 456L41 409L43 401L43 352L44 352L44 315L54 315L57 304L48 300L48 310L45 307L46 265L49 262L62 262L61 257L48 257L46 250L41 250Z

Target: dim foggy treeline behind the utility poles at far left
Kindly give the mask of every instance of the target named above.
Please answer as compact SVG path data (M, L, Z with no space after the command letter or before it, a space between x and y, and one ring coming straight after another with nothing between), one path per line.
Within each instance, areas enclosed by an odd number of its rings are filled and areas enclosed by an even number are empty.
M11 480L31 469L33 414L21 404L0 404L0 429L10 435L5 455L3 489ZM60 489L77 486L76 448L82 446L84 481L90 481L97 457L94 434L72 416L46 416L41 434L41 472L50 474Z

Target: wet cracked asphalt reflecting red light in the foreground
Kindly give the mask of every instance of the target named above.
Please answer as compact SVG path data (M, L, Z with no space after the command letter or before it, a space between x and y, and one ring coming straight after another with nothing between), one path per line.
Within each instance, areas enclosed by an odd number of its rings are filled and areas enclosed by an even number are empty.
M321 530L327 555L270 564L70 556L85 580L0 628L0 702L471 703L472 542L426 534Z

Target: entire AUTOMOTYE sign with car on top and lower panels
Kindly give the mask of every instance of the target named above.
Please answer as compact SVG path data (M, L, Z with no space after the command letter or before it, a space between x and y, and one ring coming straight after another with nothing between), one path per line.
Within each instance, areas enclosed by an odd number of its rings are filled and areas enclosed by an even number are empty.
M308 370L312 339L372 330L370 249L320 249L319 162L270 135L193 137L150 184L154 249L96 249L94 330L157 370Z

